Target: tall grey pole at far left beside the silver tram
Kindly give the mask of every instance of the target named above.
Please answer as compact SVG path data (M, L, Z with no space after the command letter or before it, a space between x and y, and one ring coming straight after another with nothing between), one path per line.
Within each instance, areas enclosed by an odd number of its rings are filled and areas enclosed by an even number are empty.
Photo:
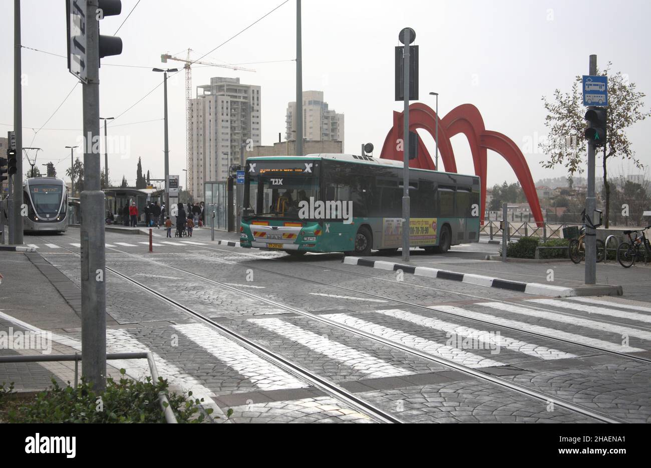
M23 243L23 90L20 51L20 0L14 0L14 132L16 132L16 174L14 174L14 212L10 230L14 244Z

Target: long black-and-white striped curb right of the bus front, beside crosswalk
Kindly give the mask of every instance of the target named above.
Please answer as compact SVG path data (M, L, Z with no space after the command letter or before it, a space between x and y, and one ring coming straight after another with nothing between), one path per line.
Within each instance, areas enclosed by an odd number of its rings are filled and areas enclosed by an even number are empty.
M402 270L405 273L412 273L418 276L428 276L430 278L438 278L442 280L460 281L484 287L499 287L501 289L510 289L511 291L518 291L521 293L529 293L541 296L570 297L581 295L577 292L577 288L575 287L553 286L550 284L540 283L522 283L519 281L492 278L491 276L482 276L480 274L457 273L454 271L439 270L431 267L401 265L400 263L393 263L391 261L369 260L359 257L344 257L343 263L348 263L348 265L372 267L380 270Z

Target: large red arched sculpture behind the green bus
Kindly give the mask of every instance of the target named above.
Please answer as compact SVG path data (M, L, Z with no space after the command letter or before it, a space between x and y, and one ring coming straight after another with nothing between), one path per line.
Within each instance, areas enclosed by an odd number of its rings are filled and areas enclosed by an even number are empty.
M425 104L416 102L409 106L409 130L415 131L417 128L424 128L434 138L436 135L437 115ZM393 127L389 130L387 138L380 153L380 158L393 159L402 161L403 153L398 151L398 139L402 139L403 132L403 113L393 112ZM486 130L484 120L478 109L472 104L462 104L454 108L448 115L439 119L439 151L441 159L447 172L458 172L456 161L454 160L454 151L450 144L450 138L456 134L464 134L468 139L470 151L473 154L473 163L475 165L475 174L481 179L481 222L484 222L484 212L486 211L486 150L491 149L501 154L508 164L511 165L518 181L525 192L529 207L533 213L534 220L542 225L542 211L540 210L540 201L536 194L536 186L533 183L529 166L525 161L525 156L518 148L518 145L512 139L499 133ZM418 158L409 161L410 168L436 170L432 156L427 151L425 145L419 139ZM469 171L463 171L469 173Z

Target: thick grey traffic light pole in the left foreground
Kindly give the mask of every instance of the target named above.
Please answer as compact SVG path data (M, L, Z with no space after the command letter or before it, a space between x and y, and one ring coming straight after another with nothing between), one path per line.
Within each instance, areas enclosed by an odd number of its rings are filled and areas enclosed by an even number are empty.
M87 0L83 84L84 184L81 192L81 373L95 390L106 386L106 277L104 192L100 190L100 37L98 0Z

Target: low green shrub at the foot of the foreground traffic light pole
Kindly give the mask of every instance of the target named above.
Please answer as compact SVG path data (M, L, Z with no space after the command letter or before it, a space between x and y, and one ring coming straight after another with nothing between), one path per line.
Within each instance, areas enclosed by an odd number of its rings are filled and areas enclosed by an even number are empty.
M167 380L162 377L152 382L151 377L145 381L124 378L124 369L120 369L119 381L106 379L106 390L97 394L92 386L82 379L77 388L59 386L52 379L52 387L40 392L29 405L21 405L16 411L10 411L9 422L165 422L158 394L167 393ZM167 394L169 405L178 422L204 422L205 416L199 413L198 405L203 399L184 395ZM206 409L210 415L212 409Z

